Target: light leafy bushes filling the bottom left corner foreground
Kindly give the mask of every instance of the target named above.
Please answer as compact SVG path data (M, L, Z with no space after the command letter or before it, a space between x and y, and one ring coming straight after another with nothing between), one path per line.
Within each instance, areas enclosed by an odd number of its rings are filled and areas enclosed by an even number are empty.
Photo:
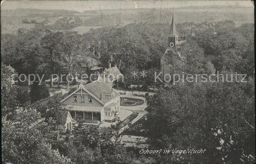
M49 125L30 127L39 115L33 109L18 111L16 121L2 119L2 162L11 163L71 163L70 159L51 149L48 143L56 133ZM36 117L31 117L31 114Z

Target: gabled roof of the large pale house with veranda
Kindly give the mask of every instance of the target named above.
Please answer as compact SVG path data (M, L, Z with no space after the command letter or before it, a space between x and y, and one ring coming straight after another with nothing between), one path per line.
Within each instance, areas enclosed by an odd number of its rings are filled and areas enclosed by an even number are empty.
M115 91L115 89L112 89L112 87L110 87L107 83L105 83L101 79L98 79L85 86L80 84L80 86L73 93L68 95L66 98L62 99L61 102L71 97L74 93L76 93L81 89L87 92L93 98L95 98L102 105L105 105L105 103L109 102L111 99L120 96L120 94L117 91ZM111 98L112 90L113 90L113 95ZM100 98L100 94L102 95L102 99Z

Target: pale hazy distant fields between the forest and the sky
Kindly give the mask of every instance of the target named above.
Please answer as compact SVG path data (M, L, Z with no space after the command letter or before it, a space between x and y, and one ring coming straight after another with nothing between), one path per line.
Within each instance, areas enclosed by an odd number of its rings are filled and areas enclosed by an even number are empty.
M75 27L72 31L86 33L90 29L101 28L102 26L125 25L138 22L171 22L171 9L121 9L121 10L102 10L77 11L63 10L37 10L37 9L16 9L1 11L1 32L16 33L19 28L30 29L34 24L24 24L22 19L48 19L54 23L62 16L78 16L82 20L82 26ZM218 22L230 20L237 25L242 23L254 23L254 9L248 7L189 7L175 9L175 22ZM56 30L54 30L56 31ZM61 31L61 30L60 30Z

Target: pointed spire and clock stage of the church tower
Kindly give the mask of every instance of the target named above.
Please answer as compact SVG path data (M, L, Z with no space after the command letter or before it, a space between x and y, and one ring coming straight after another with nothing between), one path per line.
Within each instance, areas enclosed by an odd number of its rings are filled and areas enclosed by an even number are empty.
M175 47L176 43L178 42L178 34L176 31L176 26L174 23L174 12L172 11L172 20L171 20L171 28L168 34L168 47Z

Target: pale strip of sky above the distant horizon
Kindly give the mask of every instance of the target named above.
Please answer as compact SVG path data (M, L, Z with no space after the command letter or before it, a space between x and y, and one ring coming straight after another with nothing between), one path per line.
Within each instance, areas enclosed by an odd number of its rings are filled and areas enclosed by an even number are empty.
M1 1L1 10L18 8L49 9L49 10L111 10L133 8L175 8L185 6L246 6L254 7L251 0L4 0Z

